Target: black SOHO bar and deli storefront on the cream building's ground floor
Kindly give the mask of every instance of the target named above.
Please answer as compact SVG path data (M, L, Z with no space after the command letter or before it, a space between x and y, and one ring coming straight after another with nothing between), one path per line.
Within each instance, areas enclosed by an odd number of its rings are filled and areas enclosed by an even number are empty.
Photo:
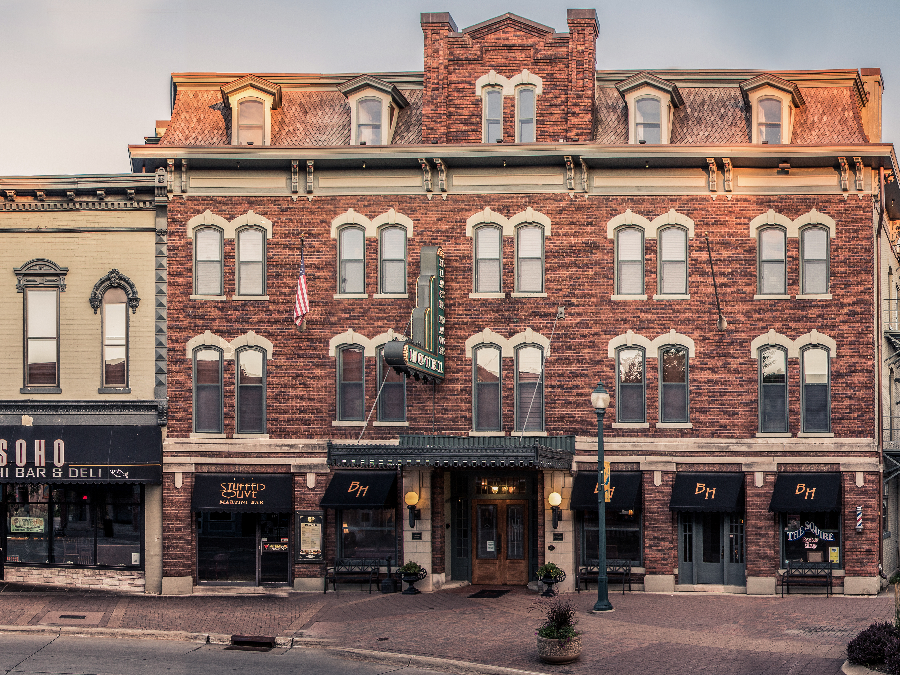
M0 426L0 578L159 592L162 428L142 407Z

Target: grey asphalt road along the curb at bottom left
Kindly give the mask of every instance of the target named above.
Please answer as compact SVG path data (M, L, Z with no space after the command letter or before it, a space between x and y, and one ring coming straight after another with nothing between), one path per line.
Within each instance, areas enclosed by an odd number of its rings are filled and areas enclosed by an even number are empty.
M439 671L343 658L322 649L268 652L169 640L0 634L0 674L19 675L434 675Z

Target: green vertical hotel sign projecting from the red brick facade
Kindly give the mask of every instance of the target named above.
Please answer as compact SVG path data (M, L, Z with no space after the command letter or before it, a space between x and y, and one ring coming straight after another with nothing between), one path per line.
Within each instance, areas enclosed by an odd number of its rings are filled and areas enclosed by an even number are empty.
M384 360L394 370L426 382L444 379L447 351L447 290L444 249L423 246L416 307L412 312L412 340L388 342Z

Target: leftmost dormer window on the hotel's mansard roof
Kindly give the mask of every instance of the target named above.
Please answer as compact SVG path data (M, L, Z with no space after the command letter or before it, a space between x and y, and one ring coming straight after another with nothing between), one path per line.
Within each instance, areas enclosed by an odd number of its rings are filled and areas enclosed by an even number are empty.
M281 106L281 87L256 75L247 75L222 87L231 108L232 145L270 145L272 111Z

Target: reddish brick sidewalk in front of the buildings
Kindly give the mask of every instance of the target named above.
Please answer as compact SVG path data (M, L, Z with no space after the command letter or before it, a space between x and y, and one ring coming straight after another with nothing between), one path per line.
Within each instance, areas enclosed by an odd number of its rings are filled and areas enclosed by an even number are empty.
M570 594L581 610L581 659L547 666L535 656L537 595L513 588L472 599L471 586L404 596L341 591L158 597L46 592L0 586L0 624L47 625L48 615L93 614L54 625L312 637L342 647L457 659L558 673L831 675L847 642L893 616L893 597L758 597L679 593L611 596L615 611L590 615L595 593ZM52 618L52 617L51 617ZM43 622L43 623L42 623Z

